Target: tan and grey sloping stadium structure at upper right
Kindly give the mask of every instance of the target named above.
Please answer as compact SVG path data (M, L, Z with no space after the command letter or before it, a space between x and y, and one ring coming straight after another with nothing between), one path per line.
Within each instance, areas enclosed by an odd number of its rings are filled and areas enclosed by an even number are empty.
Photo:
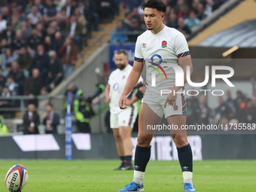
M230 0L229 2L232 2ZM229 3L228 2L228 3ZM256 1L244 0L223 16L218 16L212 25L188 41L188 45L200 47L255 48Z

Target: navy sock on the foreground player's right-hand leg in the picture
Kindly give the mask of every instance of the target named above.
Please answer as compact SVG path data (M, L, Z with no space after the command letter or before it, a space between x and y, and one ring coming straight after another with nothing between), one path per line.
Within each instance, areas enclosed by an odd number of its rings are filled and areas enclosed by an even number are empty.
M177 148L177 150L182 172L193 172L193 157L190 144Z

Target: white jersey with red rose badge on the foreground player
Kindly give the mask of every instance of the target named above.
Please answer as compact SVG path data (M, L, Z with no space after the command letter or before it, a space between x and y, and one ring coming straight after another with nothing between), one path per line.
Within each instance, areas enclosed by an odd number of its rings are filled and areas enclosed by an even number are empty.
M164 26L157 34L148 30L139 35L135 60L145 61L146 64L145 95L160 96L160 90L172 87L175 84L175 71L171 65L178 65L178 58L189 54L184 35L176 29ZM154 83L152 86L152 77L155 77L155 86Z

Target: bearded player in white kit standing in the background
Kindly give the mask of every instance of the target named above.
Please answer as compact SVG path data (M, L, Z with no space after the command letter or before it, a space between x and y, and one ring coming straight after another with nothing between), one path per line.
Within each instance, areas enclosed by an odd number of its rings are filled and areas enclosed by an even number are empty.
M114 133L117 153L121 160L121 165L114 170L133 170L131 133L138 114L137 101L143 97L143 79L142 77L138 78L126 98L127 108L121 110L118 101L133 67L128 62L125 50L117 50L114 54L114 62L117 69L111 72L105 89L105 102L109 103L111 112L110 126Z

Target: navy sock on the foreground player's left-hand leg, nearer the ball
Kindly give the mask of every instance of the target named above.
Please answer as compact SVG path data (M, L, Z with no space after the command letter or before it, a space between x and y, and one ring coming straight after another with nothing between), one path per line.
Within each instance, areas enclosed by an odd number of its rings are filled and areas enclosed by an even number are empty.
M149 159L151 158L151 146L148 148L142 148L136 146L134 170L145 172Z

